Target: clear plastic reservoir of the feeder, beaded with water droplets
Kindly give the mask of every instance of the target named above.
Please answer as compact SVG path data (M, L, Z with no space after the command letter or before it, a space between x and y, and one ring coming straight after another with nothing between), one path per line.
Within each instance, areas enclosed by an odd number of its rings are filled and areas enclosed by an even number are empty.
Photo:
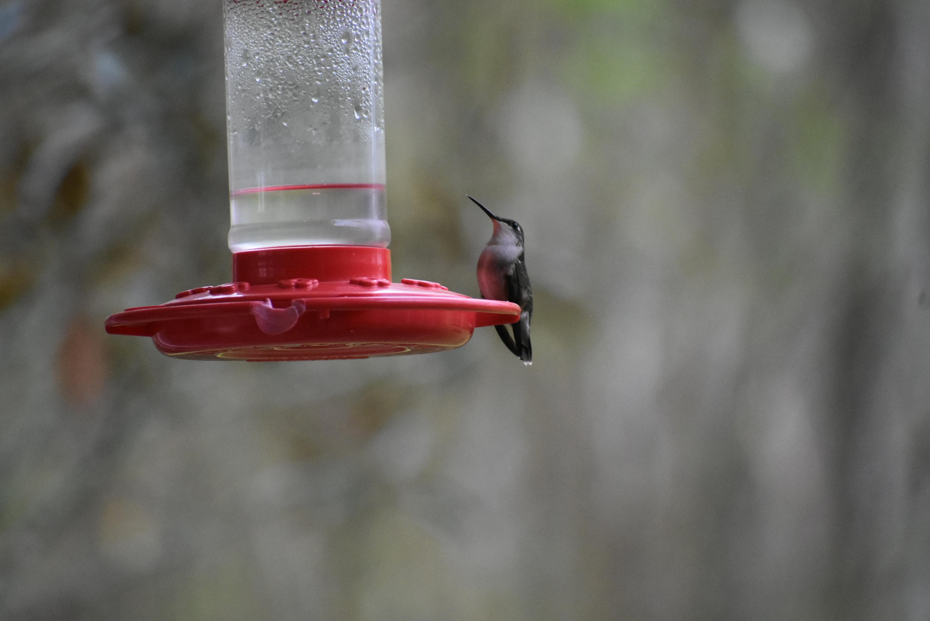
M380 0L225 0L230 250L387 247Z

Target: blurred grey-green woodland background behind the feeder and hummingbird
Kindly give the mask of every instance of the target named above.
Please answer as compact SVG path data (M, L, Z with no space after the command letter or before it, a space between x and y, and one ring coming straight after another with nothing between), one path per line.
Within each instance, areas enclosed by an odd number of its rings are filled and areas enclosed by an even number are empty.
M383 0L394 278L536 364L161 357L218 0L0 0L4 619L930 618L930 4Z

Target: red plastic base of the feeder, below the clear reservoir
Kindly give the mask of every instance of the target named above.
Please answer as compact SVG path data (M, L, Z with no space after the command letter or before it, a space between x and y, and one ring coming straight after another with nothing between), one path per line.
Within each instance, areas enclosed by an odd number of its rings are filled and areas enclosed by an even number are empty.
M509 302L423 280L392 283L391 251L366 246L238 252L233 280L127 309L106 329L152 337L173 358L259 362L431 354L520 318Z

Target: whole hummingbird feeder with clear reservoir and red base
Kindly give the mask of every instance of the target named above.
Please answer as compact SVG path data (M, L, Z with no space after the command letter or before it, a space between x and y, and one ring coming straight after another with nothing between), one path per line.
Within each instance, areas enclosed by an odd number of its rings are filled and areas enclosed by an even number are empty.
M109 317L195 360L428 354L520 307L392 282L380 0L225 0L233 282Z

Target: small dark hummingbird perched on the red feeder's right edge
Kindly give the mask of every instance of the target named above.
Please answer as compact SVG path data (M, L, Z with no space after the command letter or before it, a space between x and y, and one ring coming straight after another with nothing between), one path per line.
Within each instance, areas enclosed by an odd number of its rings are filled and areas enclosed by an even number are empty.
M523 229L512 220L498 218L472 196L469 198L494 223L494 235L478 258L478 289L486 300L503 300L520 306L520 320L511 324L513 337L505 326L494 328L513 355L531 365L529 323L533 318L533 289L526 274Z

